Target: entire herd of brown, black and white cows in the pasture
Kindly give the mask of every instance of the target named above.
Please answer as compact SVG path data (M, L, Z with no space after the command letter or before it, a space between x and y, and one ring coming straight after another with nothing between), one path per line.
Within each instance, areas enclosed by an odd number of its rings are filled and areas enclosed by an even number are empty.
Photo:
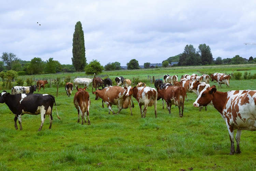
M154 82L155 88L147 87L146 83L140 82L137 86L131 87L131 80L123 77L116 77L115 82L117 86L112 86L112 80L106 78L102 80L100 77L94 76L90 78L76 78L74 79L74 86L77 92L74 95L74 106L78 112L78 121L80 116L82 117L82 124L84 120L86 122L86 115L89 120L89 107L90 96L86 91L86 88L92 83L93 89L96 90L92 93L95 94L95 100L102 99L102 107L105 105L110 111L112 105L118 106L119 113L122 109L130 108L132 115L132 107L134 107L132 97L133 96L139 104L141 117L146 116L147 107L154 105L155 117L157 117L157 100L162 99L162 108L164 109L165 100L169 114L171 113L171 106L175 105L179 108L180 117L183 116L184 101L187 96L186 93L194 92L197 95L196 101L193 103L195 107L205 107L208 104L213 105L215 109L222 115L226 122L231 148L230 154L234 153L234 130L237 129L236 141L237 150L236 153L241 153L239 143L241 130L256 130L256 91L252 90L236 90L228 92L219 92L215 86L210 87L209 81L216 81L218 86L226 84L229 87L230 74L225 75L221 73L214 73L209 75L198 76L196 74L185 74L178 81L178 76L164 75L163 80L157 79ZM37 86L12 88L11 94L3 91L0 94L0 103L5 103L9 109L14 113L14 126L17 127L17 119L22 130L22 115L25 113L38 115L41 113L41 125L39 131L42 129L45 115L49 115L50 126L52 126L52 109L55 104L55 98L48 94L32 94L38 88L44 88L44 84L48 83L47 80L40 80L37 82ZM79 85L84 85L84 88L78 88ZM103 88L104 85L104 88ZM120 87L122 86L122 87ZM99 89L101 87L102 89ZM73 90L73 83L66 83L66 92L70 97ZM142 106L144 106L142 108ZM56 107L56 104L55 104ZM57 112L57 108L56 108ZM59 118L58 112L57 116ZM59 118L60 119L60 118Z

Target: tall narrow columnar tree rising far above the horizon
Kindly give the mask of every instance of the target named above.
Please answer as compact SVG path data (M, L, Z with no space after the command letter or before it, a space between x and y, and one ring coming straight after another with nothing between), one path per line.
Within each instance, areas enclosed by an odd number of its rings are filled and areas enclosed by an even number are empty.
M84 31L82 23L78 21L75 25L75 32L73 34L73 58L72 64L76 71L84 71L86 63L85 47L84 47Z

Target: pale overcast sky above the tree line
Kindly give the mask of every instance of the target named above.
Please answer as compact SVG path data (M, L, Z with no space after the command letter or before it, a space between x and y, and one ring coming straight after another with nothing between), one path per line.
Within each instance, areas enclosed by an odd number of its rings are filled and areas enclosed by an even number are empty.
M30 61L72 64L72 38L81 21L86 59L102 65L131 59L159 63L210 46L213 58L256 57L256 1L10 1L1 0L0 52ZM38 22L38 24L37 24ZM41 24L41 26L39 25Z

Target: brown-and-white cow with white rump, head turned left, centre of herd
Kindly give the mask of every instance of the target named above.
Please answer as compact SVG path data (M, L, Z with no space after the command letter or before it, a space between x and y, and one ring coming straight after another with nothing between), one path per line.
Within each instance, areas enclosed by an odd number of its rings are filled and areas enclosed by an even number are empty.
M139 107L140 107L140 113L141 118L146 117L147 113L147 107L153 106L155 108L155 116L156 116L156 107L157 107L157 91L154 88L151 87L128 87L126 96L132 94L134 98L136 98ZM144 105L144 108L142 109L142 106ZM144 113L144 115L143 115Z

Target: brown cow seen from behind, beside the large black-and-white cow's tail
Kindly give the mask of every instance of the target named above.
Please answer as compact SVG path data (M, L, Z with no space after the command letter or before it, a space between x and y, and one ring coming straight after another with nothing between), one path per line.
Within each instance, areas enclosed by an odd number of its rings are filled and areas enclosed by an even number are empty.
M80 122L80 116L82 118L82 125L84 124L84 121L86 123L86 114L88 118L88 125L90 125L90 119L89 119L89 108L90 108L90 95L86 90L86 88L77 89L78 91L74 95L74 105L77 109L77 115L78 120L77 123Z

